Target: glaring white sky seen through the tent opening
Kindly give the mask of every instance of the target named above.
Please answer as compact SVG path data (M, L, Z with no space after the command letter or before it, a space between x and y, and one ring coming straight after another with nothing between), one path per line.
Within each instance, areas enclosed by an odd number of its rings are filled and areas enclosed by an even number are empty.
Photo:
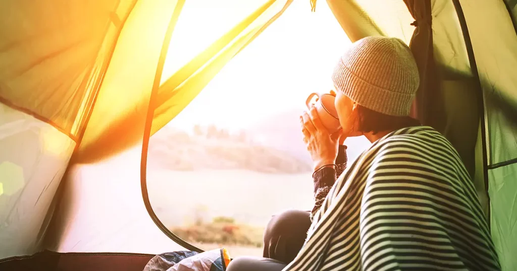
M164 74L172 74L265 2L187 1ZM181 39L189 42L174 42ZM216 124L234 130L281 111L299 108L301 113L308 94L330 90L332 69L349 44L325 1L318 2L316 12L309 1L294 1L168 125Z

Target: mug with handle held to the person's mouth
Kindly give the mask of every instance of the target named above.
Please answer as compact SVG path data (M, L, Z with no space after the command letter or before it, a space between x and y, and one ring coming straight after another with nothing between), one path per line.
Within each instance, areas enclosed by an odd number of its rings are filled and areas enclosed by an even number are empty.
M320 117L323 126L325 126L327 131L331 134L337 132L341 125L339 124L338 111L334 106L334 100L336 100L336 97L327 93L311 93L305 102L307 108L311 108L310 102L314 97L318 97L314 107L316 107L318 117Z

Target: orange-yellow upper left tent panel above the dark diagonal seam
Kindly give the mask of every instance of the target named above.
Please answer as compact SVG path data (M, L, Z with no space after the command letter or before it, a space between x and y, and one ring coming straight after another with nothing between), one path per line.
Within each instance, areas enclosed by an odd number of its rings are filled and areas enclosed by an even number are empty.
M78 141L113 44L135 0L3 2L0 101Z

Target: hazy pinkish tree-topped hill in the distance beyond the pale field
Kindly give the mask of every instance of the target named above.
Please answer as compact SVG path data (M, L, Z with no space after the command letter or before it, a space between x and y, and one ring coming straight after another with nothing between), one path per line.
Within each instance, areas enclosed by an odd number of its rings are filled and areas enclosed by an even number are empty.
M171 170L245 169L267 173L301 173L311 165L289 152L263 146L246 132L230 134L210 126L192 133L162 129L149 141L149 165Z

